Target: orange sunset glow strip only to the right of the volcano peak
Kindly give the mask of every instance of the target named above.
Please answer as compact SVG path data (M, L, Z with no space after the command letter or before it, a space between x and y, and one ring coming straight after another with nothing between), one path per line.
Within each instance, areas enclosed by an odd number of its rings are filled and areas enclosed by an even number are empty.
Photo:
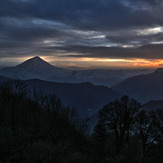
M127 68L157 68L157 67L163 67L163 59L114 59L114 58L70 58L70 57L41 57L42 59L45 59L47 62L54 63L55 62L66 62L67 65L73 65L77 62L83 62L83 64L95 64L98 63L99 65L105 64L105 67L108 64L109 66L113 67L127 67ZM75 65L75 64L74 64ZM78 64L76 64L77 66ZM89 67L89 66L87 66Z

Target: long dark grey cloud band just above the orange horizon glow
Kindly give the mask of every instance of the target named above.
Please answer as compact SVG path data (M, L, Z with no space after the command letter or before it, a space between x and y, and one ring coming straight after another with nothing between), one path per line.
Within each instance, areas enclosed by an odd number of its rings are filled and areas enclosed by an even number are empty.
M149 44L136 48L123 47L90 47L90 46L67 46L46 47L50 51L65 51L68 55L63 57L76 58L125 58L125 59L163 59L163 44ZM71 54L71 55L69 55Z

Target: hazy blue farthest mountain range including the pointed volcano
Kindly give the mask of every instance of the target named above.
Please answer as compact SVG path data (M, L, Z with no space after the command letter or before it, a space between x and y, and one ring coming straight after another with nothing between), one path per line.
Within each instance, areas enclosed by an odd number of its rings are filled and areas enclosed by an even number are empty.
M41 79L63 83L91 82L112 86L124 79L151 70L66 70L55 67L36 56L17 66L0 69L0 75L13 79Z

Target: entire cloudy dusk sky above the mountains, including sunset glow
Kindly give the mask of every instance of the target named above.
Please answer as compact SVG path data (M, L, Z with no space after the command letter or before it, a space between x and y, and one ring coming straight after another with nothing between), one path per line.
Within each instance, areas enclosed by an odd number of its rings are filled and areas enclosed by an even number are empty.
M163 67L162 0L0 0L0 65Z

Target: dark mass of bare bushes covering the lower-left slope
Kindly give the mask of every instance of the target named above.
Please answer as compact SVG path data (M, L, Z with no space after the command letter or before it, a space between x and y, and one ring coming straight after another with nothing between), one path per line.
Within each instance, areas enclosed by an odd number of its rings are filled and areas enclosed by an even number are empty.
M91 162L82 121L56 96L40 100L23 85L0 86L0 162Z

